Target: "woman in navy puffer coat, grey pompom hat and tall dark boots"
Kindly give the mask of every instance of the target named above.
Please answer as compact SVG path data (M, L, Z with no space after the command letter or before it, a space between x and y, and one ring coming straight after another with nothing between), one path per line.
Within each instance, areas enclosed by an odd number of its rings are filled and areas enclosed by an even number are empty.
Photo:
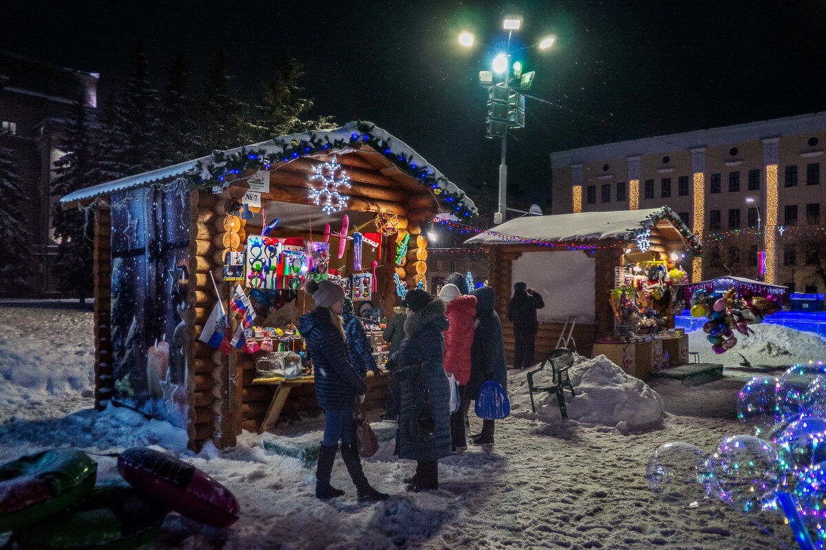
M344 307L344 289L330 281L306 284L306 292L316 301L316 308L301 316L299 330L306 341L316 375L316 398L324 409L324 440L316 468L316 497L344 495L330 485L335 453L341 441L341 458L356 486L358 501L383 501L389 495L376 491L362 470L356 446L353 411L356 399L364 401L367 386L350 363L344 325L339 317Z

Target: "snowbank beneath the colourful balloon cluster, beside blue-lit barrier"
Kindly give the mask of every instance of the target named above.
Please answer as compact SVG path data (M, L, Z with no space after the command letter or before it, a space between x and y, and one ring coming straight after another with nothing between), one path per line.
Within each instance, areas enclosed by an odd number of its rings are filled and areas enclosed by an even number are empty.
M749 325L754 334L737 334L737 346L724 354L717 355L711 350L702 330L689 332L688 345L691 351L700 352L703 363L739 363L742 354L752 366L771 364L790 366L810 360L826 360L826 341L811 332L795 331L793 328L766 322Z

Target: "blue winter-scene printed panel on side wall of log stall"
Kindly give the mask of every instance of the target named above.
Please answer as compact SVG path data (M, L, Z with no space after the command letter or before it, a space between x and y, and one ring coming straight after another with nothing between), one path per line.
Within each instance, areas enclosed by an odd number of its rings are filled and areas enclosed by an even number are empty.
M185 427L189 201L183 182L112 195L114 400Z

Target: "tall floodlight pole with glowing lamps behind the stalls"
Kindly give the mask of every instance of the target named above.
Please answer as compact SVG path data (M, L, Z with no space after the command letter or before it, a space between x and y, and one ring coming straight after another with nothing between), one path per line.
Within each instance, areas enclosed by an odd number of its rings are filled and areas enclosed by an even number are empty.
M502 140L500 163L499 163L499 197L493 223L504 223L507 212L507 188L508 188L508 167L507 167L507 135L510 128L525 127L525 96L520 91L529 89L534 80L535 72L522 73L522 63L517 61L511 67L510 63L510 40L514 31L519 31L522 26L521 17L506 17L502 22L503 28L508 31L508 41L504 54L496 55L493 60L493 71L480 71L479 83L482 87L487 87L487 137L491 139L500 138ZM553 37L547 36L539 42L539 49L548 49L553 45ZM472 46L474 37L471 33L464 31L459 35L459 43L464 46ZM531 46L533 47L533 46ZM517 50L520 51L520 50ZM514 69L514 78L519 82L510 84L510 69ZM502 82L494 82L494 74L502 74ZM513 92L513 93L511 93Z

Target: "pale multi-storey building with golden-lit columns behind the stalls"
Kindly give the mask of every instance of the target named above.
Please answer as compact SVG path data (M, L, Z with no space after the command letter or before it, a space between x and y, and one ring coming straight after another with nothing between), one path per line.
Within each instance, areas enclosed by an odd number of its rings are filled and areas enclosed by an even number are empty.
M686 266L692 280L731 274L823 293L805 248L826 242L824 149L819 112L551 153L552 213L667 205L705 240Z

